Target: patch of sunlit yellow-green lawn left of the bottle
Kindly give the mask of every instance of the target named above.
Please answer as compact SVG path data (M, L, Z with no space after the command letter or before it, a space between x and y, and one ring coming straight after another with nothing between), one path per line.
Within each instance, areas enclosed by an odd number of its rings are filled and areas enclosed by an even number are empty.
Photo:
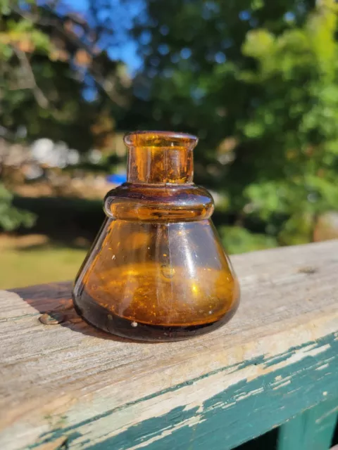
M73 280L87 253L50 244L0 248L0 288Z

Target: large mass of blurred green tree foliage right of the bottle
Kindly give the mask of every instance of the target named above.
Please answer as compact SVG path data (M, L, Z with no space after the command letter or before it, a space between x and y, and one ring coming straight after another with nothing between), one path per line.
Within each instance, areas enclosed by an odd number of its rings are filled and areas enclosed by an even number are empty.
M337 210L337 8L149 1L144 127L150 103L160 127L201 136L197 181L249 226L223 229L230 251L311 241L318 214ZM265 238L250 233L257 220Z

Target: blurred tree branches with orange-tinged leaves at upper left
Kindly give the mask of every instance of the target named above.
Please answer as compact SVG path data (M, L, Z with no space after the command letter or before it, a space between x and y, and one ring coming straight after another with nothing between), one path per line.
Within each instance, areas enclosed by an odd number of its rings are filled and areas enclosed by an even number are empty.
M127 101L128 86L120 63L96 50L99 35L94 27L71 11L59 13L53 1L37 6L35 1L0 0L0 11L0 124L6 130L4 137L15 141L17 130L25 127L28 143L44 137L65 141L80 152L109 146L115 120ZM82 39L77 37L78 29ZM92 102L84 98L89 86L99 88ZM108 160L106 166L110 165ZM2 173L0 158L0 176ZM1 187L1 228L31 226L34 215L11 202L12 195Z

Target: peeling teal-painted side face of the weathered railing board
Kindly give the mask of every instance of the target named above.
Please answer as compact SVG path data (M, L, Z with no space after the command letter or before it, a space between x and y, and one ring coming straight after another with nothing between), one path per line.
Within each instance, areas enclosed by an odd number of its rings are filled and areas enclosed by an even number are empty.
M303 358L295 358L299 353L303 354ZM283 363L290 359L295 362L284 366ZM270 372L253 380L242 380L211 397L202 406L193 409L177 407L170 413L132 425L99 443L91 445L90 441L82 441L82 444L90 450L230 450L263 435L296 416L299 411L338 394L338 340L335 334L294 347L273 358L262 355L224 370L236 372L248 366L269 368ZM216 374L210 373L204 377L210 380L211 385L213 375ZM189 384L198 387L199 381L192 380ZM186 385L174 386L170 388L170 394L175 398L184 387ZM139 403L144 403L145 408L149 400L158 398L160 401L161 396L168 392L158 392L151 398L140 399ZM132 414L135 404L129 406ZM75 427L58 428L42 435L30 449L56 442L61 436L68 436L70 449L78 448L88 428L95 429L101 420L114 423L120 413L123 413L121 409L112 410ZM284 446L283 450L296 448Z

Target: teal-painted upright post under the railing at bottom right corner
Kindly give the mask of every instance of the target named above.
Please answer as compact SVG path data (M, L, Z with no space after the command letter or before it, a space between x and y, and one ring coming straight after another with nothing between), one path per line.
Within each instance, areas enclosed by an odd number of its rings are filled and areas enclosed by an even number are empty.
M277 450L328 450L338 418L338 397L323 401L280 427Z

